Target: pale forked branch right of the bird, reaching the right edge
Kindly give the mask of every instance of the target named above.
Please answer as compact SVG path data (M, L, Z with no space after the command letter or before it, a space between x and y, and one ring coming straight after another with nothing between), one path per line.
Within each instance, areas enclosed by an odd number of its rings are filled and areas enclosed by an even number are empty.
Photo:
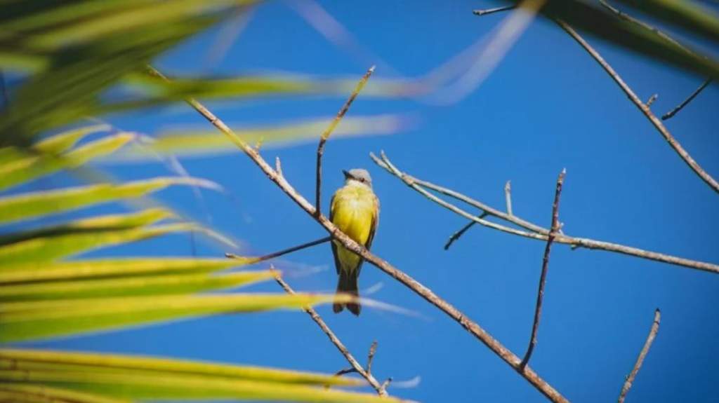
M421 179L417 179L413 176L403 173L403 172L399 171L395 166L393 166L392 163L390 163L390 161L388 159L386 159L386 156L383 156L383 158L385 158L384 161L380 160L380 158L377 158L377 156L374 156L373 154L370 154L370 157L372 157L372 160L374 160L378 166L384 168L390 174L397 176L401 181L403 181L405 184L407 184L407 186L418 191L420 194L425 196L427 199L434 201L436 204L439 204L440 206L442 206L446 209L449 209L450 211L452 211L456 214L459 214L460 216L462 216L466 219L470 219L472 221L477 222L478 224L484 225L485 227L498 229L499 231L507 232L509 234L515 234L515 235L530 238L533 240L541 240L541 241L547 240L549 230L546 228L539 227L538 225L532 224L531 222L526 222L523 219L519 219L517 216L510 216L503 212L499 212L497 209L493 209L492 207L489 207L480 201L472 199L469 196L465 196L464 194L461 194L457 191L453 191L452 189L447 189L445 187L442 187L442 186L439 186L436 184L432 184L431 182L423 181ZM498 218L503 219L506 222L510 222L512 224L517 224L521 227L531 228L532 230L531 231L523 231L521 229L507 227L502 224L497 224L495 222L490 222L490 221L487 221L486 219L476 217L475 215L472 215L469 212L466 212L463 209L460 209L459 207L455 206L454 204L451 204L448 201L445 201L444 199L440 199L439 197L435 196L434 194L431 194L425 188L437 191L437 192L439 192L441 194L445 194L447 196L451 196L454 199L464 201L465 203L470 204L472 207L484 209L484 211L487 212L489 215L498 217ZM608 252L621 253L623 255L641 257L643 259L648 259L648 260L656 260L657 262L664 262L664 263L669 263L672 265L690 267L692 269L703 270L703 271L713 272L713 273L719 273L719 265L715 265L714 263L699 262L697 260L685 259L684 257L665 255L664 253L651 252L649 250L641 250L636 247L629 247L629 246L614 244L614 243L610 243L610 242L590 240L588 238L570 237L569 235L562 234L562 233L557 234L557 237L554 239L554 242L562 243L565 245L570 245L570 246L572 246L572 248L583 247L586 249L605 250Z

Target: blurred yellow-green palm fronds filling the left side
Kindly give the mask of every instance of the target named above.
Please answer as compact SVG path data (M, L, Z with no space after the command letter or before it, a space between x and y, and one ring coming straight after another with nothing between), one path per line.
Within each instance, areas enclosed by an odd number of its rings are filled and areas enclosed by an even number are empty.
M271 280L270 270L226 272L253 257L75 256L99 248L198 232L229 242L166 207L145 206L168 186L219 190L188 176L115 183L88 163L141 143L137 133L106 124L54 136L47 131L78 120L178 102L188 96L255 99L267 95L344 93L350 82L301 77L180 79L168 86L144 76L145 66L193 34L237 15L247 0L2 1L0 70L19 84L0 113L0 342L12 343L112 331L215 314L299 310L333 295L213 293ZM380 91L381 93L381 91ZM372 126L374 125L374 126ZM308 136L317 126L268 128L278 141ZM386 133L386 116L358 118L346 133ZM109 133L108 133L109 132ZM146 140L146 139L145 139ZM165 141L167 141L165 139ZM162 144L162 141L158 141ZM229 142L228 142L229 143ZM216 147L219 147L216 141ZM142 147L141 147L142 148ZM162 153L152 150L150 153ZM170 150L168 150L170 151ZM91 184L26 191L44 176L70 171ZM22 190L18 190L22 189ZM7 193L9 191L9 193ZM133 212L42 224L99 204L137 201ZM210 292L210 293L208 293ZM210 336L211 337L211 336ZM357 379L175 359L0 349L0 400L12 402L127 402L136 399L261 399L372 402L370 394L327 389ZM382 399L383 402L396 399Z

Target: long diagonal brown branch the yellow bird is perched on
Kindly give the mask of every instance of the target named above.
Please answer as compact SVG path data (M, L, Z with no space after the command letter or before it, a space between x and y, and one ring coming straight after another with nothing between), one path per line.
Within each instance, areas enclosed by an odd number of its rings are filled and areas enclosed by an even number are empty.
M156 77L163 77L160 72L157 72L157 70L152 69L152 67L149 68L151 69L150 74L155 75ZM348 237L346 234L344 234L344 232L340 231L337 227L335 227L334 224L332 224L332 222L329 221L327 217L324 217L323 214L321 214L320 212L316 214L315 207L313 207L313 205L307 199L305 199L301 194L299 194L298 191L296 191L293 186L288 183L284 176L278 175L277 171L275 171L265 161L265 159L260 156L259 153L255 152L255 150L247 146L247 143L242 141L242 139L239 138L237 134L234 133L224 122L222 122L222 120L217 118L214 113L211 113L201 103L192 98L189 98L187 100L187 103L193 108L195 108L198 113L203 115L203 117L206 118L219 131L224 133L224 135L227 136L230 141L235 143L244 152L244 154L247 155L250 159L252 159L255 165L257 165L262 170L262 172L267 175L267 179L273 181L277 186L280 187L280 189L285 194L290 197L290 199L292 199L299 207L301 207L301 209L303 209L310 216L314 217L316 222L318 222L322 227L324 227L324 229L326 229L327 232L331 234L334 240L342 244L342 246L347 248L347 250L351 250L352 252L361 256L367 262L370 262L378 269L390 275L392 278L395 278L395 280L398 280L407 288L413 290L417 295L420 295L422 298L424 298L424 300L428 301L432 305L435 305L437 308L439 308L439 310L444 312L450 318L454 319L454 321L457 321L457 323L459 323L459 325L461 325L463 328L467 329L467 331L469 331L472 336L475 336L475 338L481 341L485 346L487 346L487 348L492 350L497 356L500 357L500 359L505 361L505 363L507 363L516 371L519 371L519 364L521 362L521 359L519 359L518 356L516 356L505 346L503 346L502 343L493 338L490 333L487 333L487 331L485 331L481 326L471 321L470 318L467 318L467 316L464 315L464 313L462 313L457 308L454 308L454 306L446 302L446 300L440 298L439 295L433 293L429 288L426 288L421 283L418 283L417 280L414 280L405 272L398 270L393 265L390 265L389 262L383 260L381 257L373 255L362 245L359 245L357 242L354 242L352 238ZM523 371L519 372L519 374L552 402L567 402L567 399L565 399L562 394L557 392L554 387L552 387L549 383L542 379L539 374L536 374L536 372L533 371L533 369L529 368L529 366L526 366Z

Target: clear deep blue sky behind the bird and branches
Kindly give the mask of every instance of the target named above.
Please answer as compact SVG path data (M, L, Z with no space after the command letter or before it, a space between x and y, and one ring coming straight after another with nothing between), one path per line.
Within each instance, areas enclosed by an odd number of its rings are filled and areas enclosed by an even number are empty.
M367 49L408 77L429 72L475 42L506 14L473 16L477 2L322 2ZM208 32L163 58L163 70L203 70ZM671 109L702 82L672 67L588 38L641 98L654 93L656 114ZM371 58L370 58L371 59ZM255 9L239 39L213 72L285 71L356 76L377 62L338 49L283 1ZM393 77L378 67L375 77ZM218 109L227 123L280 123L332 115L337 98L290 98L233 103ZM674 136L719 176L716 110L710 85L667 122ZM511 180L513 209L549 226L554 182L567 179L560 220L564 232L706 262L719 262L715 227L718 197L684 165L608 75L561 29L536 21L499 67L467 98L452 105L360 97L349 115L409 113L418 124L395 136L329 141L324 158L324 205L342 184L342 169L367 168L382 203L373 252L412 275L477 321L515 354L526 350L544 242L475 227L449 251L447 237L464 219L411 191L370 161L384 150L400 169L462 191L494 207L504 205ZM155 133L168 125L201 123L191 110L154 110L115 117L115 125ZM318 133L319 134L319 133ZM263 151L280 156L285 176L308 199L314 186L316 143ZM324 236L322 229L239 152L183 161L193 175L212 179L232 197L203 193L206 210L188 189L160 198L242 240L271 252ZM167 174L159 164L109 169L123 179ZM221 250L197 245L198 255ZM173 236L94 255L188 255L191 242ZM336 275L329 245L276 262L296 290L332 291ZM262 265L261 267L265 267ZM310 268L321 268L311 270ZM365 309L362 316L319 313L361 361L372 340L378 379L421 377L417 387L389 392L424 402L542 401L527 381L464 329L371 265L360 288L381 284L371 298L419 318ZM274 283L252 287L278 291ZM605 402L618 395L661 308L659 336L629 392L632 401L710 402L719 394L719 279L658 262L556 245L546 283L539 344L531 366L565 397ZM334 372L342 356L304 313L281 312L183 321L61 341L33 343L89 351L167 354Z

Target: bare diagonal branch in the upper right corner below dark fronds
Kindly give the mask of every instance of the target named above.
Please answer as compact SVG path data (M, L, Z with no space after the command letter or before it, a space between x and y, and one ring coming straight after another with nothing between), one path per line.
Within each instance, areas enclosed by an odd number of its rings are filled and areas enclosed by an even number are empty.
M647 106L645 103L641 102L641 100L636 96L636 94L631 90L631 88L622 80L622 78L615 72L615 70L609 65L608 62L604 60L604 58L597 52L593 47L590 46L590 44L585 41L584 38L580 36L580 34L577 34L576 31L572 27L569 27L569 25L566 22L563 22L560 19L555 20L557 24L559 24L559 27L562 27L564 31L569 34L572 38L574 38L575 41L577 41L580 46L582 46L587 53L589 53L594 59L599 63L600 66L607 72L607 74L612 77L612 80L619 85L619 87L623 90L623 92L627 95L629 100L636 105L636 107L641 111L641 113L644 113L644 116L646 116L647 119L649 119L649 122L651 122L652 125L654 125L654 128L656 128L657 131L659 131L659 134L661 134L662 137L664 137L664 140L669 143L669 146L674 148L674 151L676 151L677 154L679 154L679 157L682 158L684 163L689 166L692 171L699 176L702 181L705 181L707 185L709 185L710 188L714 189L715 192L719 193L719 182L717 182L710 174L707 174L707 172L702 169L702 167L697 163L697 161L692 158L692 156L687 153L686 150L684 150L684 147L682 147L681 144L677 141L677 139L672 136L672 133L669 133L667 128L664 126L664 123L661 123L661 120L654 115L654 113L651 112L651 109L649 106Z

